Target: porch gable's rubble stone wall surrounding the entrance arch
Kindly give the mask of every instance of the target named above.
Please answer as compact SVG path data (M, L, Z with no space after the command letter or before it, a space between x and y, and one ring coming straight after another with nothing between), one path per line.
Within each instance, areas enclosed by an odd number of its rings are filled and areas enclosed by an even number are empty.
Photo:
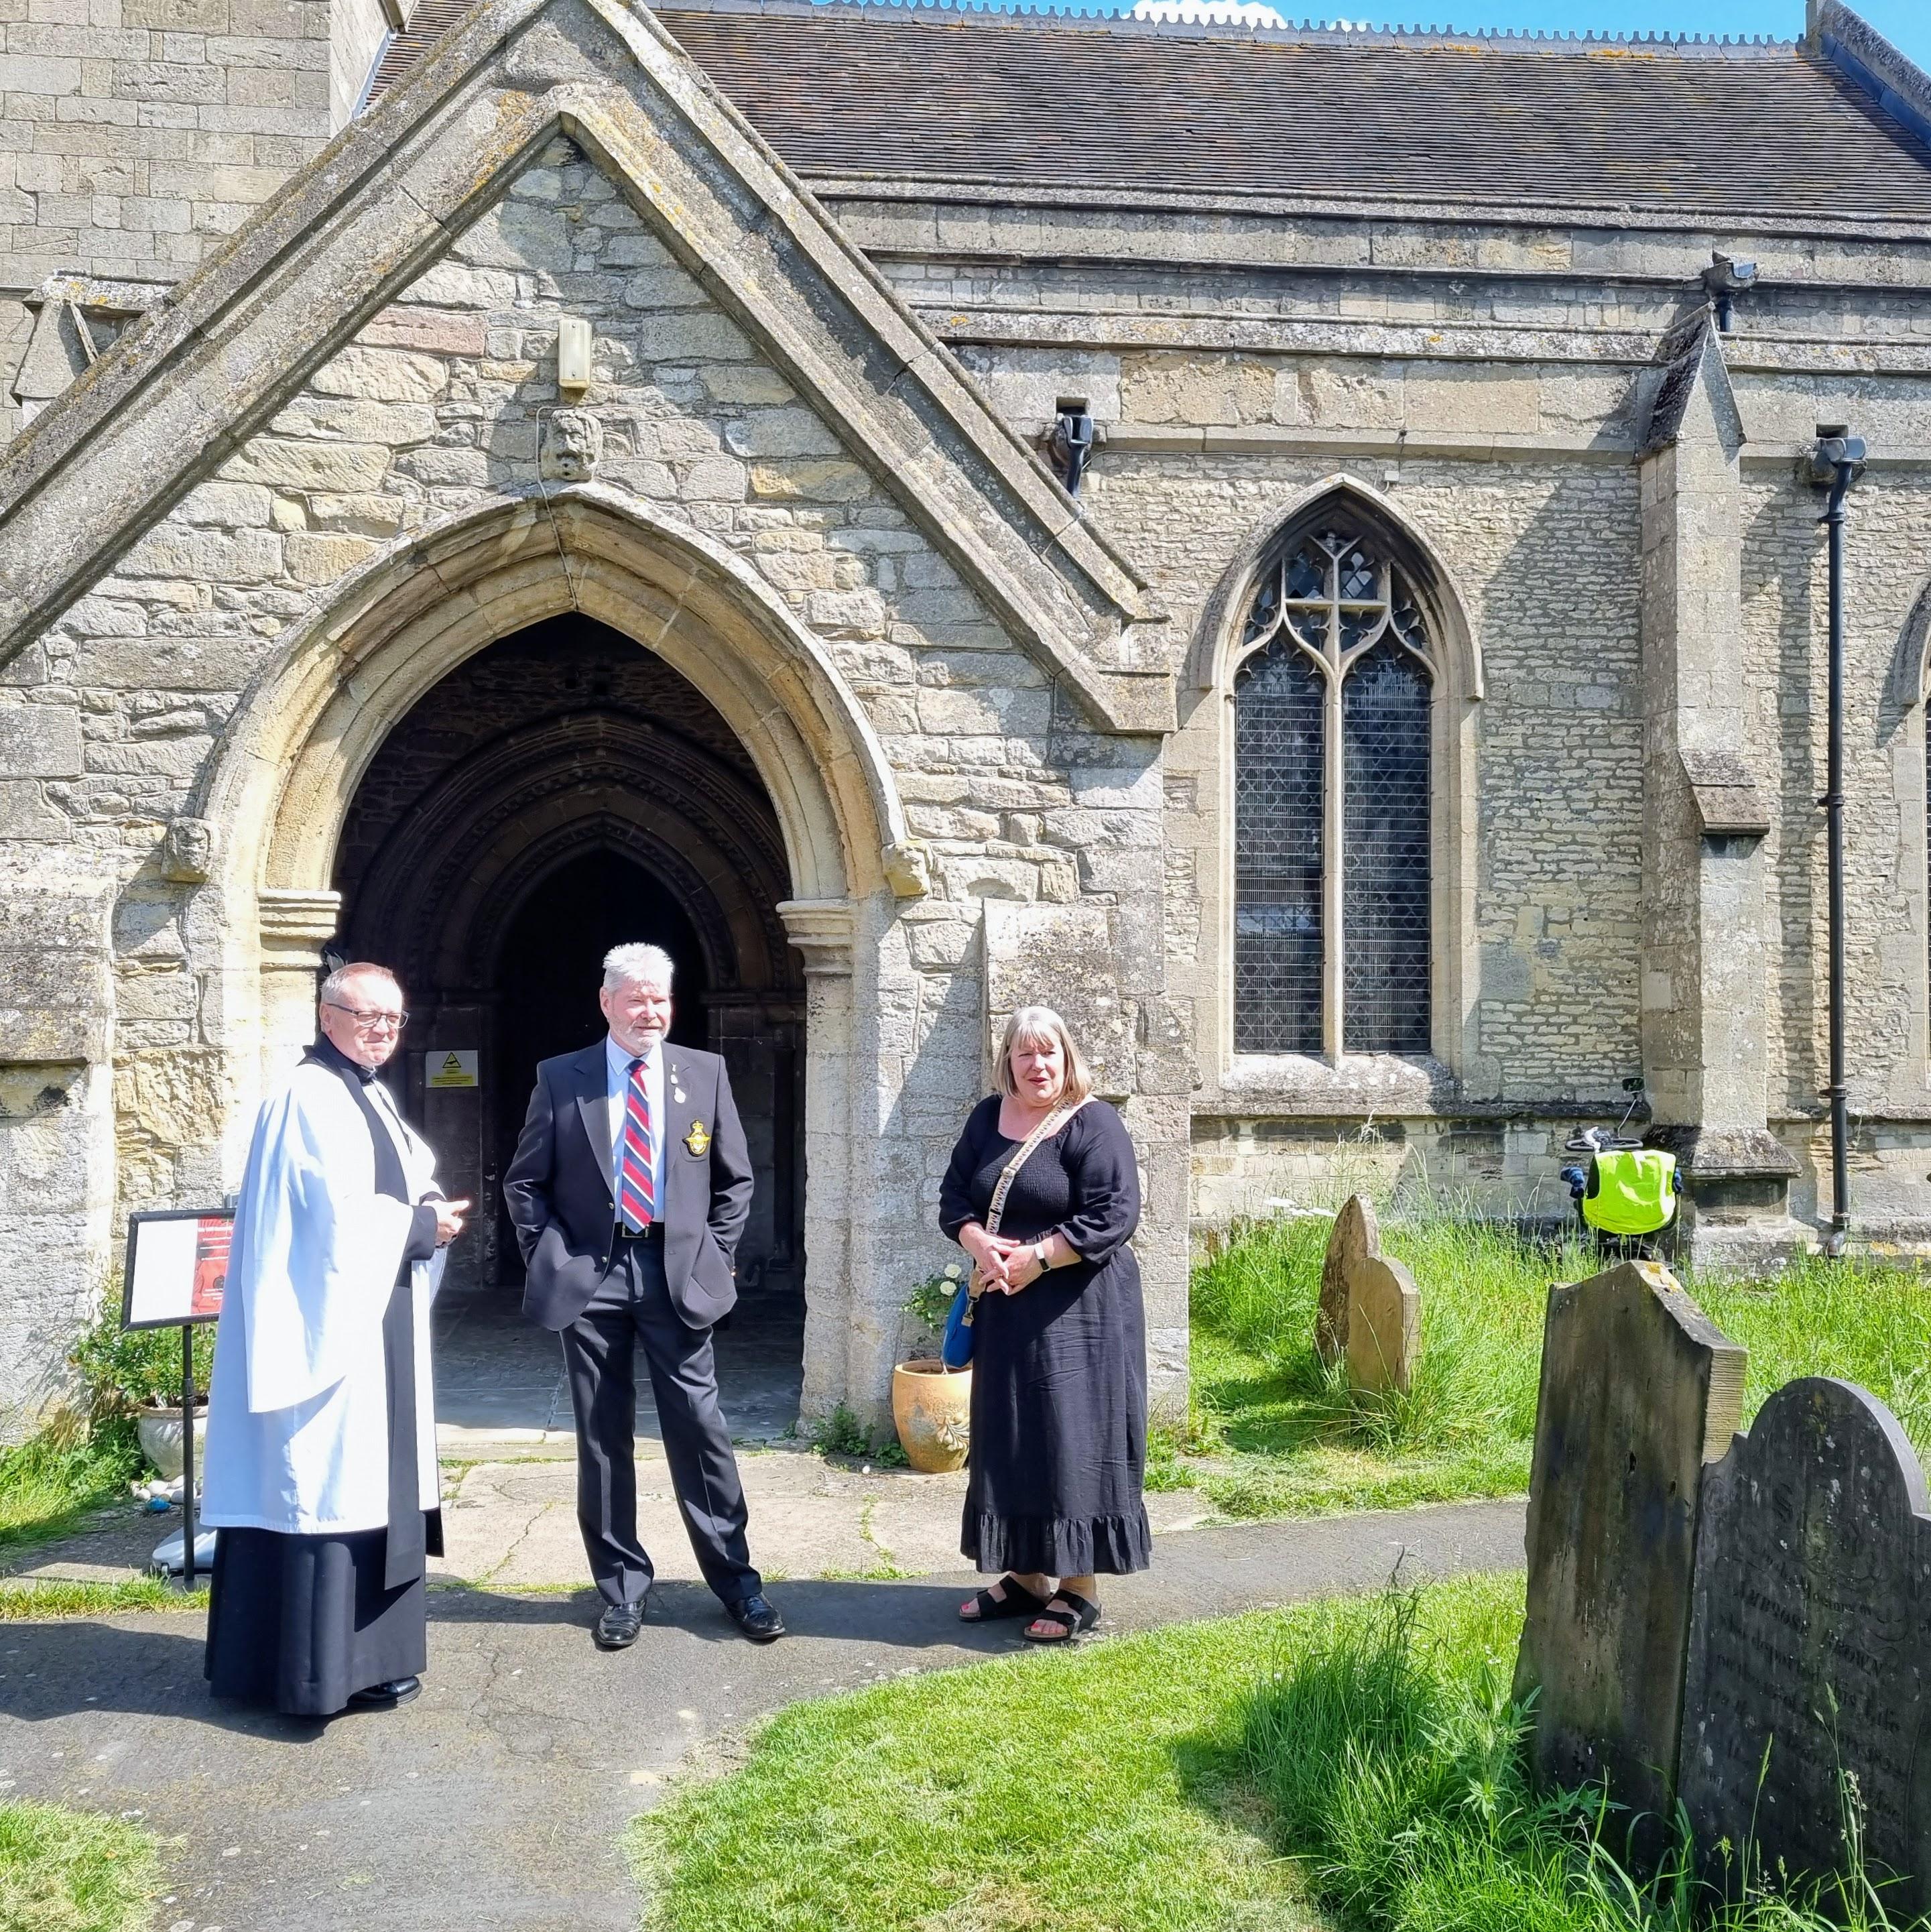
M0 742L70 748L19 811L70 850L98 844L118 873L120 997L137 1020L116 1057L120 1206L218 1190L234 1076L182 937L191 893L160 877L164 819L249 676L346 572L535 485L564 309L597 330L599 483L736 549L817 632L929 846L933 893L882 933L867 987L886 1198L865 1211L892 1227L910 1287L940 1258L938 1179L983 1092L977 902L1091 895L1157 945L1159 769L1056 709L900 504L564 141L68 611L31 682L0 694Z

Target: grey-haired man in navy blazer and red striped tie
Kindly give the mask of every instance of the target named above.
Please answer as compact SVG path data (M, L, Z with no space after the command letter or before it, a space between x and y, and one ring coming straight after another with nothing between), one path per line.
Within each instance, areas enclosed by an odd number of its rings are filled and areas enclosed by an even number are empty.
M523 1312L564 1341L577 1522L604 1600L604 1650L637 1640L653 1578L637 1542L635 1345L705 1580L745 1636L784 1634L751 1567L711 1352L713 1323L738 1300L751 1157L724 1063L666 1039L670 980L658 947L604 956L597 999L610 1032L537 1066L502 1182L523 1250Z

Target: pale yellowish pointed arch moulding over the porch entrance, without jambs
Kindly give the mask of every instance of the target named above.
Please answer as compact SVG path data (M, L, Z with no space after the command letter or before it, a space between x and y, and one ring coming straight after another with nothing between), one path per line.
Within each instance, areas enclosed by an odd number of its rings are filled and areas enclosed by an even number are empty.
M811 908L923 891L871 723L823 643L728 549L599 485L502 498L346 580L210 759L195 815L216 829L220 1010L232 1039L255 1022L263 1066L309 1037L336 838L390 726L475 651L570 611L655 651L736 732L784 835L786 925L809 929L817 970Z

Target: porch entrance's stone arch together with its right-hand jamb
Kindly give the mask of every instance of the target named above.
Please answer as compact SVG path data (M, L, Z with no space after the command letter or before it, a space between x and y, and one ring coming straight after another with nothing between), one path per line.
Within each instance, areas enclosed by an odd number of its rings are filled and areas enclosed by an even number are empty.
M384 738L473 655L570 612L687 680L769 794L782 850L759 850L763 835L686 798L701 837L684 883L711 885L742 862L788 891L774 908L782 935L763 929L759 914L759 929L740 918L713 943L722 952L728 939L772 983L801 987L805 1408L869 1401L875 1391L857 1385L869 1366L846 1335L850 1310L871 1293L871 1260L854 1238L855 1204L869 1198L867 1142L854 1136L877 1126L867 1007L854 985L869 983L898 904L923 891L923 854L906 833L879 738L825 645L722 545L597 485L498 500L396 543L292 632L243 696L193 800L214 827L197 931L214 964L209 1012L228 1053L226 1132L245 1136L263 1082L313 1036L315 972L344 910L332 889L336 848ZM614 781L614 767L604 777ZM599 806L610 823L597 838L649 864L635 808L608 806ZM545 866L537 848L498 856L521 889ZM728 918L730 898L722 904ZM471 929L487 937L489 920L477 918ZM238 1157L239 1146L230 1151Z

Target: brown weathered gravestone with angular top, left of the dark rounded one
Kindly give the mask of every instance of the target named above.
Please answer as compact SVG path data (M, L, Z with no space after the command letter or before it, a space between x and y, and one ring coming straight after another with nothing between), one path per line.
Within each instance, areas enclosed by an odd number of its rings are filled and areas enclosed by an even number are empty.
M1549 1291L1516 1696L1537 1692L1539 1783L1607 1779L1655 1830L1672 1816L1697 1482L1742 1414L1744 1362L1655 1262Z

